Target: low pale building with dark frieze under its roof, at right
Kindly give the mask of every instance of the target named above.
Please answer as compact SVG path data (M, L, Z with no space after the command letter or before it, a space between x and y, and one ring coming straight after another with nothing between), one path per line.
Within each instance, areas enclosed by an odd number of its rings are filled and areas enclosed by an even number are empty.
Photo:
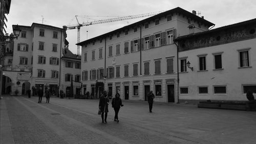
M255 31L251 19L178 37L180 99L246 101L248 90L255 95Z

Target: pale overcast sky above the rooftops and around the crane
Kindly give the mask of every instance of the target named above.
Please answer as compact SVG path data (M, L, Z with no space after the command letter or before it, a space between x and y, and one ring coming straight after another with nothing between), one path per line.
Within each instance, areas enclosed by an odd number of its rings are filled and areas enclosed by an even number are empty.
M7 33L12 32L12 25L31 26L33 22L62 28L75 24L75 15L80 16L128 16L180 7L191 12L201 12L201 16L219 28L233 23L256 18L255 0L12 0L10 13L7 15ZM111 17L79 17L79 22L100 20ZM141 18L99 25L81 27L80 41L116 30L134 23ZM77 30L67 31L69 49L77 53Z

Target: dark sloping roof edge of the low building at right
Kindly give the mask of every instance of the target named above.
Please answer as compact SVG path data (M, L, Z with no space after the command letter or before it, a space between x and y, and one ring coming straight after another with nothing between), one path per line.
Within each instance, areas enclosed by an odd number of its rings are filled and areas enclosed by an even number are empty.
M229 30L231 28L245 26L245 25L248 25L249 23L254 23L254 22L256 22L256 18L250 19L250 20L246 20L246 21L242 21L242 22L238 22L238 23L234 23L232 25L227 25L227 26L224 26L224 27L212 29L212 30L209 30L209 31L204 31L204 32L199 32L199 33L194 33L194 34L180 36L180 37L174 39L174 41L179 41L179 40L183 40L183 39L191 38L191 37L195 37L195 36L206 35L206 34L209 34L209 33Z

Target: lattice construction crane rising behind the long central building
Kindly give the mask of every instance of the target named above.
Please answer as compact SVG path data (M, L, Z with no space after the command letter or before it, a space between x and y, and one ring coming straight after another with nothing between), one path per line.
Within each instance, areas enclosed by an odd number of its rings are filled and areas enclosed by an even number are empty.
M123 17L117 17L117 18L110 18L110 19L103 19L103 20L97 20L97 21L90 21L90 22L82 22L79 23L77 19L77 25L70 25L66 26L67 30L77 29L77 43L80 42L80 28L83 26L90 26L90 25L97 25L100 23L108 23L108 22L115 22L115 21L121 21L121 20L127 20L127 19L135 19L135 18L141 18L141 17L147 17L147 16L153 16L159 13L162 13L164 11L158 11L158 12L152 12L152 13L144 13L144 14L137 14L137 15L131 15L131 16L123 16ZM77 55L80 55L80 46L77 45Z

